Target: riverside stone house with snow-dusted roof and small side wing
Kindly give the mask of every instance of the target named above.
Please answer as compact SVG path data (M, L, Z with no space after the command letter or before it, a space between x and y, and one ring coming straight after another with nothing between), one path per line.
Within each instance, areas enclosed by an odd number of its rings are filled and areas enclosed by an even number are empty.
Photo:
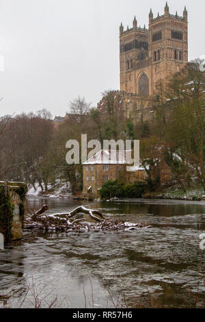
M123 178L125 182L145 179L146 171L133 166L127 171L124 151L100 150L83 163L83 196L90 199L99 196L99 190L108 180Z

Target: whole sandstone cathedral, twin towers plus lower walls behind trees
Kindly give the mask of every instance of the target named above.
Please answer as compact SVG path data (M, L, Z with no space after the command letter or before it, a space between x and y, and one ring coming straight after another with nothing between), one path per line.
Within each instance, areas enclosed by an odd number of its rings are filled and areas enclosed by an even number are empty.
M133 121L154 117L156 84L180 71L188 62L187 9L183 16L170 14L166 3L164 14L149 14L149 28L120 25L120 90L112 92L113 107ZM107 99L98 103L99 112L107 112Z

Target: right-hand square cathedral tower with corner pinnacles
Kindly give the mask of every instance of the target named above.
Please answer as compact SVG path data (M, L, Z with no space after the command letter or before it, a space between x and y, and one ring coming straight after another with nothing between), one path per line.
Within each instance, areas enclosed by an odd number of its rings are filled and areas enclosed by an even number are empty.
M183 16L169 14L166 3L162 16L149 16L149 57L152 62L151 93L159 79L180 71L188 61L187 9Z

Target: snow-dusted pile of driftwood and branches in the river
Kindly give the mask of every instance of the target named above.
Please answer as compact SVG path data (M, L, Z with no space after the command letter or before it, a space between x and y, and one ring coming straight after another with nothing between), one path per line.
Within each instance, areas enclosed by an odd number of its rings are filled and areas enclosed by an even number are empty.
M138 230L144 227L141 223L128 223L126 221L119 221L106 217L99 210L93 210L80 206L70 212L59 214L44 214L49 210L48 205L42 206L40 210L35 212L32 216L25 219L24 227L27 230L46 230L46 231L61 231L70 232L77 230ZM76 218L78 215L83 218ZM84 216L87 215L87 218Z

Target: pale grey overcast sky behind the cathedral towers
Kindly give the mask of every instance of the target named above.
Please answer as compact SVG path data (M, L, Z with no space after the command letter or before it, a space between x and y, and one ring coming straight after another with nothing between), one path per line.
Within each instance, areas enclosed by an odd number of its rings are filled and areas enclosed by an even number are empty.
M205 1L169 0L182 15L187 6L189 60L205 54ZM0 0L0 116L46 108L64 116L84 96L92 106L101 92L120 89L119 27L146 23L164 0ZM1 64L1 59L0 59Z

